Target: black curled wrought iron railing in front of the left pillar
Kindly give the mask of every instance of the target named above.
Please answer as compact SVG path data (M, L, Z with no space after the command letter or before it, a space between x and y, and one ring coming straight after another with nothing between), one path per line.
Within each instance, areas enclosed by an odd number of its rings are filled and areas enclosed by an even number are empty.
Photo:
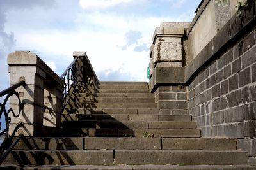
M22 136L22 135L20 135L17 139L15 139L15 141L13 141L15 132L17 132L18 129L23 126L22 123L17 124L17 126L14 128L11 135L9 134L9 128L10 128L10 122L11 122L10 113L12 113L13 117L19 117L20 112L22 110L22 102L20 101L19 93L16 92L15 89L17 89L18 87L23 86L23 85L26 85L25 81L20 81L19 83L16 83L15 85L12 85L11 87L0 92L0 97L6 96L4 98L3 103L0 103L0 117L2 117L2 115L4 115L5 124L6 124L5 129L3 129L3 131L1 131L1 133L0 133L0 136L4 137L4 140L0 146L0 164L1 164L1 162L3 162L3 160L8 155L8 153L11 152L12 148L16 145L16 143L19 141L20 137ZM19 111L17 113L14 113L14 110L12 108L6 108L8 99L11 96L16 96L19 101ZM1 123L0 123L0 127L1 128L3 127L3 125L1 125Z

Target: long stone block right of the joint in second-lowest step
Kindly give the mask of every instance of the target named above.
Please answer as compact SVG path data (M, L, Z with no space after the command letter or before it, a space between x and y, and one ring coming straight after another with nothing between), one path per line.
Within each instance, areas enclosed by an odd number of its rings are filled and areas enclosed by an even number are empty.
M115 150L115 163L237 165L248 163L248 153L204 150Z

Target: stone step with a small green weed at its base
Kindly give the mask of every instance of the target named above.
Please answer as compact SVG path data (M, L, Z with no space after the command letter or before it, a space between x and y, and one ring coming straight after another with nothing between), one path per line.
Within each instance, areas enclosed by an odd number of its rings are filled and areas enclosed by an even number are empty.
M152 136L170 138L200 138L200 129L107 129L107 128L64 128L63 136L91 136L91 137L143 137Z

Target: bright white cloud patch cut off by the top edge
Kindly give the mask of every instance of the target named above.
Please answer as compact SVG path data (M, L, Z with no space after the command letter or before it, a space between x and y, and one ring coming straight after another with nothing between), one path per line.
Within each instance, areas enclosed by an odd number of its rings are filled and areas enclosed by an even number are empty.
M134 0L79 0L83 9L104 9L116 6L121 3L131 3Z

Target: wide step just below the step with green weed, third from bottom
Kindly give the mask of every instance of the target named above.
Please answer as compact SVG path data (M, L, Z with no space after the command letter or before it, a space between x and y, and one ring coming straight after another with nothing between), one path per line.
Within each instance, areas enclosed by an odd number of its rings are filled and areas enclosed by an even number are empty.
M24 137L14 150L236 150L228 138L40 138Z

